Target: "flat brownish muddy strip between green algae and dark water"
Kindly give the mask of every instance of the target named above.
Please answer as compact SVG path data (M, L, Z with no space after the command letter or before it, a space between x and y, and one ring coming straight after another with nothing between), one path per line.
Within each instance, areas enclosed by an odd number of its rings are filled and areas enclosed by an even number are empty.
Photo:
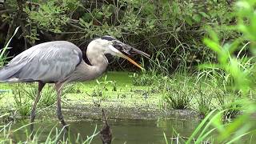
M145 119L155 120L158 118L171 119L190 119L199 118L199 115L193 110L160 110L155 107L126 107L126 106L106 106L95 105L70 105L63 106L62 113L67 119L101 119L102 108L106 110L109 119ZM54 117L55 110L51 109L51 115ZM48 112L47 112L48 113ZM44 114L42 114L43 116ZM47 114L49 116L49 113ZM56 117L56 116L55 116Z

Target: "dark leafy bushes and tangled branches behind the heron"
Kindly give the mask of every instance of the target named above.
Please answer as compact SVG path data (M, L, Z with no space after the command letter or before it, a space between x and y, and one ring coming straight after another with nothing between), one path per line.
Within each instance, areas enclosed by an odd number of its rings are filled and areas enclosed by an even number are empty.
M222 43L238 34L226 29L235 23L227 0L6 0L0 1L0 47L10 44L10 56L41 42L66 40L83 51L91 39L108 34L152 55L168 73L216 55L202 43L209 26L217 27ZM222 26L219 28L219 26ZM140 57L135 57L140 62ZM143 61L150 67L149 60ZM122 63L122 68L120 65ZM112 69L132 69L121 59ZM115 67L115 68L114 68Z

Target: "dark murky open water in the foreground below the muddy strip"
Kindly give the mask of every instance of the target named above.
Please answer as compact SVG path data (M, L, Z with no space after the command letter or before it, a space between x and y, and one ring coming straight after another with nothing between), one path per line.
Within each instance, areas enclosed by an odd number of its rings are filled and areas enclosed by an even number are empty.
M95 126L100 130L102 128L102 121L98 120L84 120L73 121L70 124L70 137L75 139L77 134L81 134L83 140L87 136L94 133ZM197 120L109 120L108 121L112 130L114 144L119 143L165 143L163 133L170 139L173 134L173 129L176 130L182 136L189 136L194 128L197 126ZM57 125L57 126L56 126ZM15 127L22 126L22 124L15 124ZM58 127L60 130L62 127L58 124L57 120L54 122L39 122L35 124L35 130L41 127L38 134L39 139L44 142L50 130L53 127ZM97 130L97 131L98 131ZM55 129L53 130L55 134ZM19 130L14 134L14 139L21 140L26 138L26 130ZM92 143L102 143L97 135Z

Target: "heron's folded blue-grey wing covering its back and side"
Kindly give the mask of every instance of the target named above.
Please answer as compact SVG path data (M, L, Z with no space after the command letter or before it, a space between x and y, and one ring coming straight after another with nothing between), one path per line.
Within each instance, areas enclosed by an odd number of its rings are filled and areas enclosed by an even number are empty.
M0 70L0 81L58 82L82 61L82 51L65 41L46 42L18 54Z

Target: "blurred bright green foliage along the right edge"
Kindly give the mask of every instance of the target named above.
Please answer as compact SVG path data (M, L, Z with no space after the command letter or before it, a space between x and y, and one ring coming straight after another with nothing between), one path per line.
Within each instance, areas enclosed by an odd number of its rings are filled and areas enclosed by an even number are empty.
M224 86L230 86L231 90L234 90L234 94L221 94L218 98L221 98L220 103L225 103L225 99L234 99L234 102L222 106L223 110L218 111L217 114L214 114L214 110L211 111L198 125L198 128L194 130L194 134L190 136L186 143L190 143L198 134L195 143L208 141L214 133L216 134L214 141L212 141L214 143L242 143L243 137L252 138L255 135L253 116L256 111L255 97L250 96L255 88L255 6L256 2L253 0L235 2L233 9L236 24L231 26L230 29L241 33L241 37L222 43L218 33L209 30L209 38L204 38L203 42L206 46L209 46L210 50L218 54L218 62L210 65L206 64L202 67L210 67L211 70L217 71L222 70L223 77L232 80L231 83ZM246 48L251 51L251 55L241 55ZM238 51L238 54L235 53L236 51ZM239 110L242 111L242 114L233 118L231 122L222 122L223 117L238 114ZM214 128L210 128L210 126ZM253 143L252 139L250 143Z

